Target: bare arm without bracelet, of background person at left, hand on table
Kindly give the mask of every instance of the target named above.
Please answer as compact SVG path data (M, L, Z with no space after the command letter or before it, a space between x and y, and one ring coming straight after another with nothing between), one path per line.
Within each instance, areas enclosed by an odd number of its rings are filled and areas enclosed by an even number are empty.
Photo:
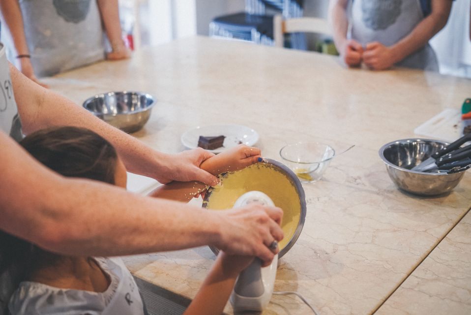
M131 57L131 52L122 40L121 25L119 23L118 0L97 0L101 20L105 26L106 34L110 40L112 51L107 53L110 60L126 59Z

